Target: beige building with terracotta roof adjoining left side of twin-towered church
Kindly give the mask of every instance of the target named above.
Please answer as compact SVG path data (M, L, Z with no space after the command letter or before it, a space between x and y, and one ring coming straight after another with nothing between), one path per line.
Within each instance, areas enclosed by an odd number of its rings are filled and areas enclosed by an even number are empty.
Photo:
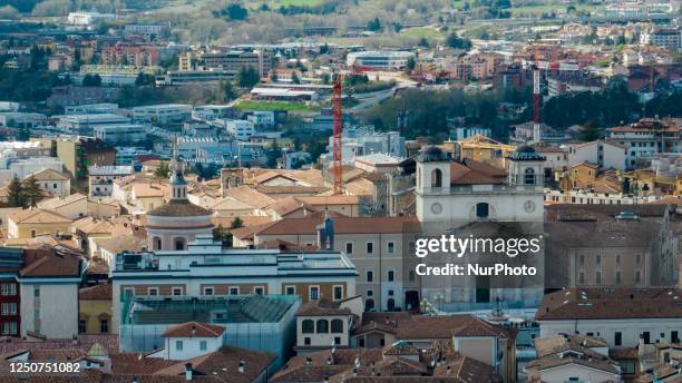
M410 256L419 235L417 218L329 215L333 222L331 248L343 252L355 265L355 291L362 295L366 311L417 308L420 281L412 264L417 258ZM280 240L313 248L320 245L323 222L324 213L315 213L238 228L233 230L234 246L263 247Z

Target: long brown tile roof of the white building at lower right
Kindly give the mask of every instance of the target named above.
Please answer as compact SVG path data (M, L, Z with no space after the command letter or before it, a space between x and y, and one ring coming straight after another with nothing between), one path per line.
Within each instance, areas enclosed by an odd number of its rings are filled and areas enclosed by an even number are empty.
M682 317L682 289L571 288L547 294L537 310L538 321L625 320Z

